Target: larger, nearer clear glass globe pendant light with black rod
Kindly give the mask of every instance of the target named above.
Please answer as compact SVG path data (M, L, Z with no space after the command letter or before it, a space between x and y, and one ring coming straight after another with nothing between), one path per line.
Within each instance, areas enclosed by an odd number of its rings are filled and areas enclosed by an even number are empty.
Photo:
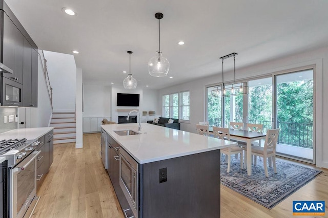
M162 56L162 52L159 50L159 20L163 18L162 13L155 14L156 19L158 19L158 55L152 57L148 62L148 72L151 76L163 77L168 75L170 69L170 63L167 58Z

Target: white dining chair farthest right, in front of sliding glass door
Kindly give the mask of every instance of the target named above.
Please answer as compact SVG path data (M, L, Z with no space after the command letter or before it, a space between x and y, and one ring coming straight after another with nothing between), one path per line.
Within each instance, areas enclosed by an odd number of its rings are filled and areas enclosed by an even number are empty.
M263 158L263 165L264 165L264 171L266 177L269 177L267 158L269 161L269 166L271 166L271 161L272 161L273 169L275 173L277 173L276 147L277 147L278 136L279 136L279 128L268 129L267 136L265 136L264 147L252 146L252 155L260 156ZM254 166L255 165L256 165L256 159L254 160Z

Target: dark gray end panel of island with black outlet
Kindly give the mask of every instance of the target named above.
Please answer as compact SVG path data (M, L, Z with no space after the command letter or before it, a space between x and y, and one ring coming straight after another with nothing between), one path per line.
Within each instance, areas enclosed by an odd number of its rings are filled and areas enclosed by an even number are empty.
M220 150L142 164L140 217L220 217ZM158 171L167 168L167 182Z

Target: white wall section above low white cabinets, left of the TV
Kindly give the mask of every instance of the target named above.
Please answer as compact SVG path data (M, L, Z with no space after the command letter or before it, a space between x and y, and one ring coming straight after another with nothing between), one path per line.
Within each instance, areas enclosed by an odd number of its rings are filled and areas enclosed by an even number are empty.
M111 86L83 85L83 117L111 117Z

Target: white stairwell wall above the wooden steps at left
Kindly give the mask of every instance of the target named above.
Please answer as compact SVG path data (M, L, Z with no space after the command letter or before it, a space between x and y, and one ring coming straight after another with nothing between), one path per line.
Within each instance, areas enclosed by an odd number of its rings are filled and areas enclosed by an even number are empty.
M75 111L76 65L73 55L44 51L51 86L54 112Z

